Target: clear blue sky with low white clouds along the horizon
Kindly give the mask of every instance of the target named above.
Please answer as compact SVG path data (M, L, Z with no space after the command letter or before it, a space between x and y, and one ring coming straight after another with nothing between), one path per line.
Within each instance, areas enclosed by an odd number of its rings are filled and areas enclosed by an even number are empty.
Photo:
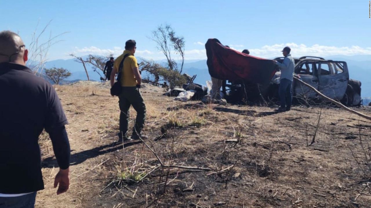
M0 30L18 32L28 44L50 20L47 33L69 32L49 50L49 60L76 55L122 53L137 41L137 56L164 58L148 37L160 24L184 36L186 59L205 59L204 43L218 38L236 50L260 57L371 54L368 0L341 1L26 1L0 0Z

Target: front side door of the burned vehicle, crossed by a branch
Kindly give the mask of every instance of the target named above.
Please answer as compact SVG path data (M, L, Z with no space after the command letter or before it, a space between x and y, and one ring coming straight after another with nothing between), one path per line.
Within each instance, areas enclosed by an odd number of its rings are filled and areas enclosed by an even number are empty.
M299 74L302 81L318 89L318 78L313 61L298 63L295 67L295 74ZM303 98L316 97L316 93L313 90L299 81L294 80L292 87L295 96Z

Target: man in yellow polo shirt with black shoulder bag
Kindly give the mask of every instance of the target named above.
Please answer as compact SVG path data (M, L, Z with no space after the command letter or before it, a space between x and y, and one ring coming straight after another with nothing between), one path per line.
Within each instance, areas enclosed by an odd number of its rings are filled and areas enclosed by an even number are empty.
M128 40L125 43L125 51L116 58L114 68L111 73L111 86L115 82L115 74L118 71L119 65L124 58L125 54L130 54L124 60L121 72L121 87L122 92L119 95L120 113L120 132L118 134L119 141L136 140L142 138L141 131L144 127L145 120L145 104L142 95L139 92L142 77L139 73L137 58L134 57L135 50L137 49L135 40ZM129 108L133 106L137 111L137 118L133 128L131 138L128 137L128 123L129 123Z

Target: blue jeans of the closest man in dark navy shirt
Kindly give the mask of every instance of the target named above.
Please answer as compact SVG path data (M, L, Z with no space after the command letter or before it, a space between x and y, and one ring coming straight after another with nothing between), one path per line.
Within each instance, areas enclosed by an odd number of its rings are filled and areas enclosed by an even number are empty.
M0 208L34 208L36 191L20 197L0 197Z

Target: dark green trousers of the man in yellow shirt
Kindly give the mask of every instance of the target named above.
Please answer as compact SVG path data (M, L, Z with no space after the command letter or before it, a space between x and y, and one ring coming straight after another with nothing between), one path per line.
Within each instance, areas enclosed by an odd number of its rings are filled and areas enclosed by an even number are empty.
M122 87L122 93L119 95L120 106L120 132L126 135L129 123L129 108L133 106L137 111L137 118L133 128L133 134L140 134L144 127L146 108L142 95L138 87Z

